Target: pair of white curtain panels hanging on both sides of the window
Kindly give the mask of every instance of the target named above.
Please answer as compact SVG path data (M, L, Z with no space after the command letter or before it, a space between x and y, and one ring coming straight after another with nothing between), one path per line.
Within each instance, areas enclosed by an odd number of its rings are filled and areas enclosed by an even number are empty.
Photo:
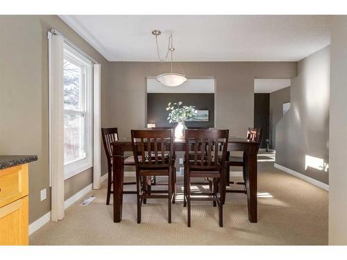
M49 38L49 175L51 186L51 220L64 218L64 44L60 34ZM69 42L71 44L71 42ZM77 47L76 47L77 49ZM78 50L80 51L80 50ZM83 53L80 51L80 53ZM87 54L85 54L87 56ZM89 57L86 57L89 59ZM92 61L94 63L94 61ZM101 187L101 64L93 65L93 189Z

